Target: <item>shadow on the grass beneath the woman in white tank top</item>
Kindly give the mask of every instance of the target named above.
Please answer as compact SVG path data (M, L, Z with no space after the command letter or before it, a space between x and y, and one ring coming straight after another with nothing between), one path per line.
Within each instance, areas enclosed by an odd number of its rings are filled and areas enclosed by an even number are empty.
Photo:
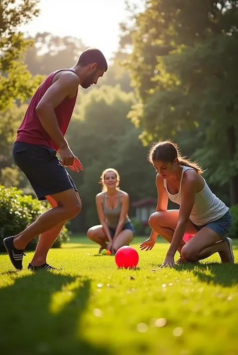
M213 283L213 285L220 285L223 287L230 287L238 283L238 264L221 264L221 263L207 263L207 264L184 264L176 266L178 271L192 271L194 276L202 282Z

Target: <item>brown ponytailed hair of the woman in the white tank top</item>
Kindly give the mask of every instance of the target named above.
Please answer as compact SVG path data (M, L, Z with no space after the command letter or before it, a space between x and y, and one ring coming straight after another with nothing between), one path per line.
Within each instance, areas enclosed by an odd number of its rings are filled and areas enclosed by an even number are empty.
M192 162L190 159L186 159L186 157L181 156L179 150L179 146L171 140L159 141L151 146L148 154L148 160L151 163L153 163L154 160L173 163L174 160L178 158L179 165L189 166L196 170L198 174L202 174L204 172L204 170L199 167L197 162Z

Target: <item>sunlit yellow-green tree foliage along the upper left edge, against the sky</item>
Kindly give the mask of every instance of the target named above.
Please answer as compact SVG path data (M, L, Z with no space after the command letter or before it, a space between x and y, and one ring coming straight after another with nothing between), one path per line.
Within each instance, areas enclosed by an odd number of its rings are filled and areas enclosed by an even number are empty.
M29 98L42 80L33 77L21 61L22 53L31 44L18 26L38 16L39 0L2 0L0 4L0 112L15 99Z

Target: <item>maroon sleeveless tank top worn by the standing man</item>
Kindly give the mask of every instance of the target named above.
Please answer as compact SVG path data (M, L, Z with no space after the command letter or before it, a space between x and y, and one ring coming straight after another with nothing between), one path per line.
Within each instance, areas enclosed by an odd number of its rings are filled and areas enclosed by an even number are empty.
M59 147L55 144L52 140L50 135L45 131L43 128L41 121L38 117L36 112L36 107L40 102L41 98L49 89L52 84L52 80L54 76L61 72L62 70L70 70L71 72L75 73L72 69L60 69L54 73L51 73L39 86L37 91L35 92L31 102L28 106L26 111L25 117L18 128L17 131L17 138L15 141L21 141L24 143L36 144L36 145L43 145L55 150L58 150ZM68 125L73 113L73 109L76 103L78 90L76 95L73 98L65 98L56 108L55 114L58 121L59 128L63 135L65 135Z

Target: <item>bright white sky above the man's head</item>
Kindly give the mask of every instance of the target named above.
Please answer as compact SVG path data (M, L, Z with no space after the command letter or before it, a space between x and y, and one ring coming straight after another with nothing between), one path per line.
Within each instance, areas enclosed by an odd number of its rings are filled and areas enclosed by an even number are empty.
M128 17L125 0L41 0L38 7L39 17L22 26L23 32L77 37L86 46L99 48L107 60L117 50L119 24Z

